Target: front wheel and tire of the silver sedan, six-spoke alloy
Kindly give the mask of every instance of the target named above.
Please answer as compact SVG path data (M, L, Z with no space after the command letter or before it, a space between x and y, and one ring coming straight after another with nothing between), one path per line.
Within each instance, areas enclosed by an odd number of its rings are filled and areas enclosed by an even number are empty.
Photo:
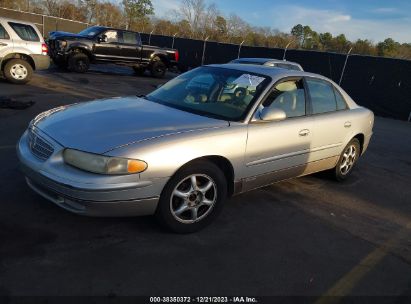
M180 169L164 187L156 218L176 233L192 233L209 225L221 212L227 181L211 162L197 161Z

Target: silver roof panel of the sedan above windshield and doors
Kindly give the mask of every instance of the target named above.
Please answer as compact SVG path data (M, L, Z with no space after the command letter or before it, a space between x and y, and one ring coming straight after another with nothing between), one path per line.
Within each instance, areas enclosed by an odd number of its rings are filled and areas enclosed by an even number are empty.
M319 75L319 74L308 73L308 72L297 71L297 70L288 70L288 69L270 67L270 66L265 66L265 65L225 63L225 64L210 64L208 66L227 68L227 69L260 74L263 76L271 77L274 81L280 78L284 78L284 77L304 77L306 76L306 77L320 78L320 79L324 79L324 80L332 82L332 80L322 75Z

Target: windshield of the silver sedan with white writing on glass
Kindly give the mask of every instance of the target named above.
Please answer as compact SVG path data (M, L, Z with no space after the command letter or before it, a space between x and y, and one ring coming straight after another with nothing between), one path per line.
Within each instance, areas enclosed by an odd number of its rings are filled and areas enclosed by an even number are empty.
M270 78L220 67L200 67L167 82L146 98L207 117L240 121Z

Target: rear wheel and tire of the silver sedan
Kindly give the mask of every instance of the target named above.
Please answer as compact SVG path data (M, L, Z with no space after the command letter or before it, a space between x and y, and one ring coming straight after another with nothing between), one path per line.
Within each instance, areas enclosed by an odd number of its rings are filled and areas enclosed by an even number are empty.
M361 146L357 138L353 138L344 148L337 165L333 169L334 178L337 181L344 181L350 175L360 157Z

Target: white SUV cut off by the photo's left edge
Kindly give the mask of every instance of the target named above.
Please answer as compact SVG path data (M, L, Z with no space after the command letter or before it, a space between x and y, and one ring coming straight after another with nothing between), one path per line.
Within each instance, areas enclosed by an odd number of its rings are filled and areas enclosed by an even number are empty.
M0 17L0 70L8 81L27 83L33 70L47 69L47 53L47 45L33 23Z

